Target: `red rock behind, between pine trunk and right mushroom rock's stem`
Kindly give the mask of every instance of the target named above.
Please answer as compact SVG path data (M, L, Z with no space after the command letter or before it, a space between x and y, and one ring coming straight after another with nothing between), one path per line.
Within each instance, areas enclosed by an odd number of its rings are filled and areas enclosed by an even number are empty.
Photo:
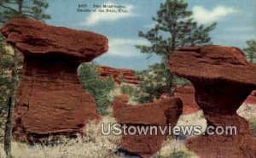
M195 103L195 88L191 85L177 86L174 96L183 101L183 114L191 114L200 110Z

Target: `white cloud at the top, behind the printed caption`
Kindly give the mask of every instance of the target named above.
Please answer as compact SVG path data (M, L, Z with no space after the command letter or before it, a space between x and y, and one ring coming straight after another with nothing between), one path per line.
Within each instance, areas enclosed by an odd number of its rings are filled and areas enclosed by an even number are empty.
M115 3L103 3L102 5L117 5ZM114 21L114 20L120 20L120 19L125 19L125 18L129 18L129 17L133 17L136 14L133 14L132 11L134 9L134 6L131 4L122 4L124 5L126 8L125 10L127 10L128 12L124 13L124 12L108 12L108 13L104 13L104 12L94 12L91 13L87 18L85 18L84 22L81 25L96 25L102 21ZM117 8L118 10L119 8Z

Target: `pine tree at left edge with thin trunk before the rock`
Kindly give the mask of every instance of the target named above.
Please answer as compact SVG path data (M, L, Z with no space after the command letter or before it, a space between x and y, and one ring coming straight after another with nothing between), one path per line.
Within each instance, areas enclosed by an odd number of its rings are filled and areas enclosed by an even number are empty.
M0 24L4 24L12 18L32 18L35 20L47 20L50 19L48 14L44 14L44 9L48 8L48 3L44 0L1 0L0 1ZM6 44L3 42L3 36L0 37L1 49L5 49ZM10 56L11 64L9 65L9 84L6 91L6 101L5 106L7 107L8 115L6 119L6 126L4 132L4 150L6 152L7 158L11 157L11 136L12 136L12 124L13 124L13 112L15 107L15 90L18 85L19 76L19 64L20 59L18 58L19 52L14 49L14 54L3 54L6 51L1 51L1 56ZM0 59L1 64L3 62L3 57ZM2 78L0 79L2 80ZM1 82L1 81L0 81ZM3 89L1 89L2 91ZM2 93L2 92L1 92ZM2 106L4 107L4 106Z

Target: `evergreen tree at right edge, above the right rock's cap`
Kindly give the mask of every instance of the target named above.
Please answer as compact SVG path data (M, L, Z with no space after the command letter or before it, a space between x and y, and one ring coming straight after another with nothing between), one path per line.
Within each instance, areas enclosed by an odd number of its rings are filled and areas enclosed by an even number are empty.
M243 48L246 52L247 59L249 62L256 63L256 40L247 41L247 48Z

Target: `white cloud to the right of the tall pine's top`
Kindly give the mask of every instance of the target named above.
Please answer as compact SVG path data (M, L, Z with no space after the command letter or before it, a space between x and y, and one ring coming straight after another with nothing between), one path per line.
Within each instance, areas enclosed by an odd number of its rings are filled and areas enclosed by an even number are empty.
M200 24L207 24L213 21L217 21L224 16L236 13L234 8L218 6L212 10L207 10L201 6L195 6L192 8L194 19Z

